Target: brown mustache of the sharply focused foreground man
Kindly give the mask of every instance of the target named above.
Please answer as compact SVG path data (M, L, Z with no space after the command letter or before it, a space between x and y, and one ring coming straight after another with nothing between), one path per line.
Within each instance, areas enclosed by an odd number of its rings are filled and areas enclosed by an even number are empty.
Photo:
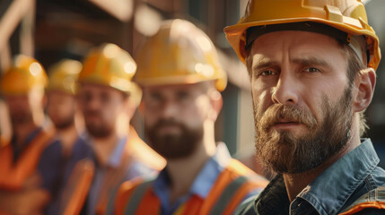
M259 124L263 129L276 125L280 121L296 122L308 126L310 129L317 127L316 117L307 110L296 106L276 104L268 107L261 117Z

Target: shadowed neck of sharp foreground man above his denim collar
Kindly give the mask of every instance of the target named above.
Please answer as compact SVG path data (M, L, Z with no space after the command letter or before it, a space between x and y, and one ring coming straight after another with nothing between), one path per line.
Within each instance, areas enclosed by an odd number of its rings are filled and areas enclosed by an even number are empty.
M333 155L319 167L311 169L303 173L297 174L284 174L284 185L289 196L290 202L293 202L295 197L302 192L302 190L321 174L325 169L334 164L338 159L344 157L349 151L354 150L360 144L360 138L357 133L352 134L350 140L346 143L346 146Z

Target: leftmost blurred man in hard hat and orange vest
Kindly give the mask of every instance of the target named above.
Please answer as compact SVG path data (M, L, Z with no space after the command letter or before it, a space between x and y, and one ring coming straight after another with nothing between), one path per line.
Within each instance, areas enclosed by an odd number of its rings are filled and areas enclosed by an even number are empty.
M47 75L30 56L16 56L1 77L12 139L0 144L0 213L41 214L59 186L60 142L42 127Z

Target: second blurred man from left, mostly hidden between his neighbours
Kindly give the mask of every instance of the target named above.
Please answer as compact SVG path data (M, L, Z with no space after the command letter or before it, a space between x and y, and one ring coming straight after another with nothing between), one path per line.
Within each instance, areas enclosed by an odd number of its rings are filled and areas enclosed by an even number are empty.
M60 180L58 198L52 200L48 214L75 214L80 211L92 182L92 148L80 133L80 111L77 108L75 90L77 76L82 70L82 63L63 59L48 70L48 87L46 90L47 114L56 128L56 136L62 145ZM82 119L83 120L83 119ZM76 183L69 182L69 177L76 176ZM74 179L73 179L74 180ZM75 186L76 189L72 186ZM66 194L66 197L63 195ZM69 199L71 199L71 201ZM74 202L75 201L75 202ZM75 210L75 211L68 211Z

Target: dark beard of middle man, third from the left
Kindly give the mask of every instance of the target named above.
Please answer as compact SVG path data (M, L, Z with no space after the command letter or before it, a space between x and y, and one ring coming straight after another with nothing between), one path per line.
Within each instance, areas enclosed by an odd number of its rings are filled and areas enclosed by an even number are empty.
M95 138L105 138L109 137L113 133L113 127L105 124L105 123L90 123L87 121L87 116L100 116L101 113L97 111L89 111L85 113L84 116L84 122L85 122L85 127L87 128L87 132L92 135L92 137Z

